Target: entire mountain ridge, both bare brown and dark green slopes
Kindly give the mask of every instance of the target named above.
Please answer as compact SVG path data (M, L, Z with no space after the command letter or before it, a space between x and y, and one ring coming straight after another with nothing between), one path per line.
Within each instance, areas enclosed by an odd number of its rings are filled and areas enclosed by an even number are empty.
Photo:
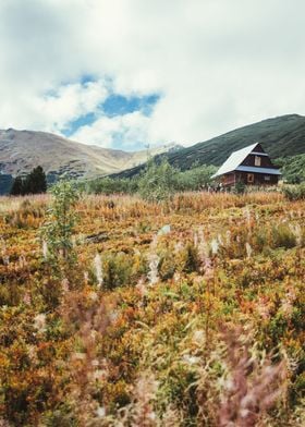
M150 149L157 161L167 158L181 170L197 164L220 166L232 151L253 143L261 143L273 160L305 154L305 117L285 114L227 132L190 147L174 144ZM29 172L40 164L48 181L60 175L93 179L109 175L131 178L138 174L148 151L123 151L85 145L40 131L0 130L0 194L8 193L12 178ZM301 159L302 160L302 159ZM297 159L295 164L303 164Z

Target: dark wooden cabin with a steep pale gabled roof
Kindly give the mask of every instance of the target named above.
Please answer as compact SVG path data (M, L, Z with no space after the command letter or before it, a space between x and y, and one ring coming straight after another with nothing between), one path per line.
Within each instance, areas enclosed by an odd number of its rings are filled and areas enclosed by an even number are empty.
M245 185L277 185L280 175L279 169L257 143L232 152L212 178L229 187L240 182Z

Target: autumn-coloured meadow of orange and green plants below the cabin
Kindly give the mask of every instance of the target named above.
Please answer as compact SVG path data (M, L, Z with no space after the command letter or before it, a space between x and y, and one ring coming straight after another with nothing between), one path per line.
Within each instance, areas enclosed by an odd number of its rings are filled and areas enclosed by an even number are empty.
M112 204L113 203L113 204ZM304 425L305 202L0 199L0 426Z

